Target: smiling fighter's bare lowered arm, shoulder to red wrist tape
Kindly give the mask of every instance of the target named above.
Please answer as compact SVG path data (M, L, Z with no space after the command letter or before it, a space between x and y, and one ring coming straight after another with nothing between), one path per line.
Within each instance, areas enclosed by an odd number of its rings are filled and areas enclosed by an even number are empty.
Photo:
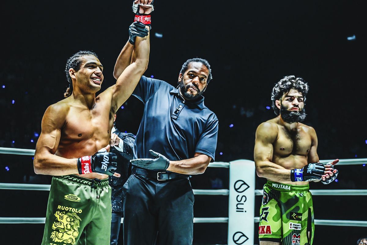
M33 161L36 174L59 176L78 173L76 158L67 159L55 155L68 110L67 105L54 104L43 115Z

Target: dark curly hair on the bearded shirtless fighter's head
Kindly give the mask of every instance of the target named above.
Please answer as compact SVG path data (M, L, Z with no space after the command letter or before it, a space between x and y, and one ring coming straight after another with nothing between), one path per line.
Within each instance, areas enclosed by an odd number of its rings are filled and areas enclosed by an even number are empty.
M304 101L306 101L306 95L308 93L308 84L303 78L296 78L295 76L285 76L275 84L272 91L272 108L276 115L279 115L280 110L276 107L275 101L280 100L283 94L289 92L291 89L297 89L302 93Z

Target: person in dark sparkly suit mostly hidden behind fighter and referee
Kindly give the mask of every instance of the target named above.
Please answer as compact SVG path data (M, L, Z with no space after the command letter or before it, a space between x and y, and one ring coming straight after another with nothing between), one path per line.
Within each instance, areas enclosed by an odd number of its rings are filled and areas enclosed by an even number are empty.
M110 176L109 185L112 188L112 221L111 221L111 245L117 245L119 231L121 226L121 217L123 217L124 197L122 195L122 187L131 174L130 160L134 157L132 152L135 135L132 133L122 133L116 128L116 114L111 130L111 149L110 152L115 153L117 157L116 172L121 174L120 178Z

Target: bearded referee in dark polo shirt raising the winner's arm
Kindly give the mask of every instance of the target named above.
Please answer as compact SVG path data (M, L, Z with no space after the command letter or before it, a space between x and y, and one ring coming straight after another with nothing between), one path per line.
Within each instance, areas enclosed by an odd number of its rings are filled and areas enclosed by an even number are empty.
M128 64L122 57L129 54L119 55L115 77ZM157 237L160 244L192 244L189 177L204 173L217 146L218 119L202 96L211 78L209 63L193 58L182 65L177 88L140 79L133 95L145 107L123 187L125 245L152 245Z

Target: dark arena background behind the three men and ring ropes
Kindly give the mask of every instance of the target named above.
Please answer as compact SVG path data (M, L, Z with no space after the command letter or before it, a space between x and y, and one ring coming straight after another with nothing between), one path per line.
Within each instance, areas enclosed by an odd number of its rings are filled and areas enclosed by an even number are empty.
M309 83L305 123L316 129L320 159L367 158L366 14L359 1L160 0L155 8L145 75L175 85L188 58L210 62L214 79L204 96L219 119L215 161L253 160L256 127L275 117L266 107L272 87L286 75ZM42 115L63 99L65 63L77 51L98 54L105 67L103 89L115 83L113 66L133 17L130 1L3 3L0 147L35 148ZM348 41L352 35L356 39ZM129 98L117 112L117 127L136 133L142 112L142 103ZM337 183L311 188L366 189L367 166L338 169ZM50 176L34 174L31 156L1 155L0 175L4 183L50 183ZM264 182L257 177L256 188ZM194 176L192 185L228 188L228 170L209 168ZM0 195L0 217L46 214L47 191L1 190ZM316 219L367 220L366 196L313 201ZM228 197L197 196L194 215L228 217ZM1 244L40 244L43 226L0 224ZM366 235L366 227L316 226L314 244L355 244ZM227 224L194 224L194 244L226 244L226 236Z

